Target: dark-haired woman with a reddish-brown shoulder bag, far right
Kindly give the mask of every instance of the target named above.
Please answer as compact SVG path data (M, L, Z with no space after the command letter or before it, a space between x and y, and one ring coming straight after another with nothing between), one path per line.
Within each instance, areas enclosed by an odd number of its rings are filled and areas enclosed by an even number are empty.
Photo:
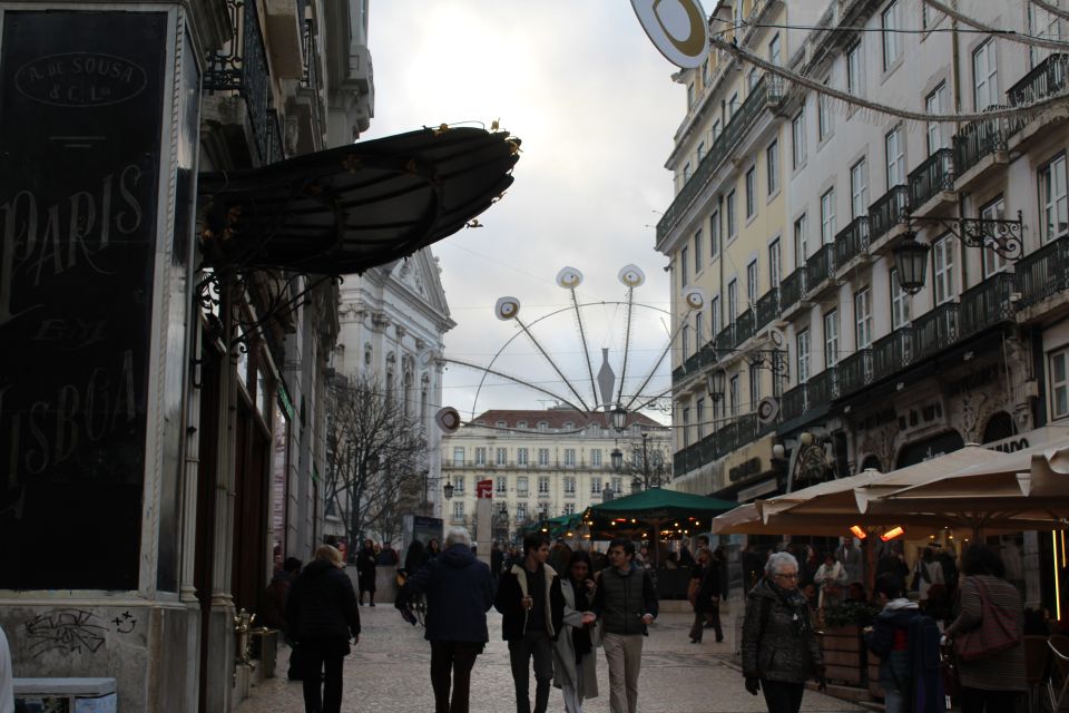
M961 681L962 713L1013 711L1024 680L1024 609L1001 557L973 544L962 555L958 618L947 627Z

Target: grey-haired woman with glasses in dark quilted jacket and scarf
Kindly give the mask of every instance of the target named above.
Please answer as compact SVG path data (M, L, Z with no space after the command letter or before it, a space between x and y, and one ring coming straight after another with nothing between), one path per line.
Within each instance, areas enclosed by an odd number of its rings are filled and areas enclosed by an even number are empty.
M746 595L743 621L743 675L746 690L763 690L769 713L797 713L805 682L824 682L824 657L810 607L798 590L798 561L776 553L765 576Z

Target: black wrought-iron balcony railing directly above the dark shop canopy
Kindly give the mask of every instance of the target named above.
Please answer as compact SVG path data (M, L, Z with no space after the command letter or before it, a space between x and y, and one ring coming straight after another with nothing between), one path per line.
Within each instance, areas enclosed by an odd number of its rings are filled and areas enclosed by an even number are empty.
M226 50L219 50L208 58L203 87L205 91L236 91L245 100L256 157L261 165L269 164L273 157L281 158L282 140L281 131L277 144L274 136L277 117L272 118L271 114L271 75L257 3L226 0L226 4L234 37Z

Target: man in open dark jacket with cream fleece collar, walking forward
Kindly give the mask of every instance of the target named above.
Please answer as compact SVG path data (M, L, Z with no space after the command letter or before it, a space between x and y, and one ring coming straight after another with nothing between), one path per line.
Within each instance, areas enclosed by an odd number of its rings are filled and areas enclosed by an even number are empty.
M498 584L494 608L502 614L501 636L509 642L517 713L531 713L530 661L534 660L534 711L546 713L553 680L553 646L565 621L560 577L546 564L549 540L523 538L523 561L512 565Z

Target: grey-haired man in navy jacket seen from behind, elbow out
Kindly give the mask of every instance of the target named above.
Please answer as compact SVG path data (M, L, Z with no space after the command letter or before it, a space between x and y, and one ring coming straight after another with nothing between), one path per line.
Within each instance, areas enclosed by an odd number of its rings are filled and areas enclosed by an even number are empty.
M493 605L490 568L471 554L468 530L451 529L442 554L410 574L401 599L421 594L426 597L424 637L431 642L434 713L468 713L471 668L490 639L487 612Z

